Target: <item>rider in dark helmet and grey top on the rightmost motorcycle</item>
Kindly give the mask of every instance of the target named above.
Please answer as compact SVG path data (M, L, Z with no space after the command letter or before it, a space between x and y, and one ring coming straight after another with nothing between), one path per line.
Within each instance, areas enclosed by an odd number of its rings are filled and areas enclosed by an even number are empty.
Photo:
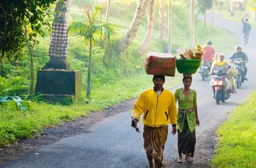
M235 49L236 49L236 52L233 53L232 56L229 58L230 62L233 63L233 60L235 58L242 58L243 61L245 61L245 63L248 62L247 55L244 52L242 52L242 46L241 45L237 45ZM243 78L244 78L244 80L248 81L248 79L246 78L247 67L245 66L245 63L243 64L243 66L244 66Z

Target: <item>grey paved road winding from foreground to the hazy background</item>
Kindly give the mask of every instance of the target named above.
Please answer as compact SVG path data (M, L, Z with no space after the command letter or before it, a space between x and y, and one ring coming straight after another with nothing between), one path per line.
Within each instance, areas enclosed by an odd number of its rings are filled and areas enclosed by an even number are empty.
M210 19L210 16L207 17ZM220 15L216 16L216 22L221 27L239 35L234 25L236 22L223 20ZM254 39L256 30L253 30ZM227 39L228 41L228 39ZM256 42L254 43L256 44ZM238 89L239 94L233 95L226 103L216 105L211 98L212 92L209 87L209 79L202 81L199 75L194 77L192 88L198 92L198 111L200 127L197 135L211 128L216 128L220 121L225 119L234 107L255 89L256 62L255 49L246 49L250 62L248 63L248 79ZM227 54L228 55L228 54ZM166 86L167 87L167 86ZM180 87L180 86L177 86ZM176 88L171 89L175 91ZM94 124L87 133L74 137L63 138L51 145L33 150L20 158L10 161L2 167L17 168L98 168L120 167L134 168L146 167L147 160L143 150L142 133L138 134L130 127L130 115L133 105L115 116L105 118ZM139 124L142 130L142 124ZM173 161L177 157L177 135L169 133L166 141L164 162Z

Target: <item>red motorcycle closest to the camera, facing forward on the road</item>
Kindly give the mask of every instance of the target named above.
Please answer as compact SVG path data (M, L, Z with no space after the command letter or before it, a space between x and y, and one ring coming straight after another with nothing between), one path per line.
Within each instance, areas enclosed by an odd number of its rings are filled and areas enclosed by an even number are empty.
M231 92L229 89L225 91L225 79L226 72L222 70L217 70L211 73L211 87L215 91L215 100L216 104L219 105L220 102L225 102L225 100L231 97Z

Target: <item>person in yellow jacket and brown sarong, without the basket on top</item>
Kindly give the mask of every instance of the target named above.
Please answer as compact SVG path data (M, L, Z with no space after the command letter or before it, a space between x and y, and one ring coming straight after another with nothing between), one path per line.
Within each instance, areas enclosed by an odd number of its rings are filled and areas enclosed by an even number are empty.
M141 93L132 112L132 126L136 128L143 113L144 149L150 168L158 168L163 165L163 150L168 134L168 124L172 124L172 134L176 134L177 108L175 98L171 91L163 88L164 82L164 76L154 76L154 88Z

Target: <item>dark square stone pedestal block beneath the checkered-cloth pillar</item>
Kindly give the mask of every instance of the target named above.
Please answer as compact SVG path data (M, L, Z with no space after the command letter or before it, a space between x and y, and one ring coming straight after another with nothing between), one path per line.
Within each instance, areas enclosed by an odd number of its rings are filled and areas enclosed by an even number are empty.
M38 70L35 92L50 102L73 101L81 95L80 70Z

